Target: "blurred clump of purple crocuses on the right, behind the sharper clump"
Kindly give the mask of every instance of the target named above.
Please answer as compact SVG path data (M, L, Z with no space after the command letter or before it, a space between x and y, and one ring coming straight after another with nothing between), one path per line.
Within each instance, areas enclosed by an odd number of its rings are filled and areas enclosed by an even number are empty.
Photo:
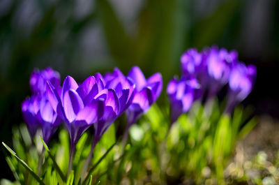
M174 77L167 86L172 122L188 112L195 100L205 94L210 100L227 84L225 112L232 113L234 106L252 91L257 73L255 66L239 61L236 51L216 46L206 47L202 52L187 50L181 56L181 69L181 80Z

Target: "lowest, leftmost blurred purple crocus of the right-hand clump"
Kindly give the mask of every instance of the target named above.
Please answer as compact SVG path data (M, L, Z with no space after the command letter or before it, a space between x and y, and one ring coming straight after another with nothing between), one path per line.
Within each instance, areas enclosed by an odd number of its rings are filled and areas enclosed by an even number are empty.
M182 113L188 112L199 97L199 83L195 78L187 80L173 78L167 85L167 96L171 105L171 121L174 123Z

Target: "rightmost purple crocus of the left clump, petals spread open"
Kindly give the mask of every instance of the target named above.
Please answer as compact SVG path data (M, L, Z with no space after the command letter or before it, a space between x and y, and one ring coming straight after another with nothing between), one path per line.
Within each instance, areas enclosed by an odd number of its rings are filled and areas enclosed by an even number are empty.
M135 83L136 93L132 104L126 111L128 128L149 110L150 106L160 96L163 87L162 75L155 73L147 80L139 67L134 66L128 73L128 77Z

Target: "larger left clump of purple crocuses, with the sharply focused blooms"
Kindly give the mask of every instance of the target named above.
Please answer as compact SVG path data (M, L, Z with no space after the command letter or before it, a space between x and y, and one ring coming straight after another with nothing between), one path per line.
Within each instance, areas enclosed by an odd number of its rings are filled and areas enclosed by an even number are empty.
M70 135L70 170L82 133L94 126L91 158L96 143L117 117L126 112L129 128L150 108L160 95L163 80L160 73L146 80L135 66L127 76L115 68L113 73L96 73L81 84L67 76L60 86L59 73L46 68L34 71L30 84L33 95L22 103L29 133L33 137L42 128L43 140L48 142L63 121Z

